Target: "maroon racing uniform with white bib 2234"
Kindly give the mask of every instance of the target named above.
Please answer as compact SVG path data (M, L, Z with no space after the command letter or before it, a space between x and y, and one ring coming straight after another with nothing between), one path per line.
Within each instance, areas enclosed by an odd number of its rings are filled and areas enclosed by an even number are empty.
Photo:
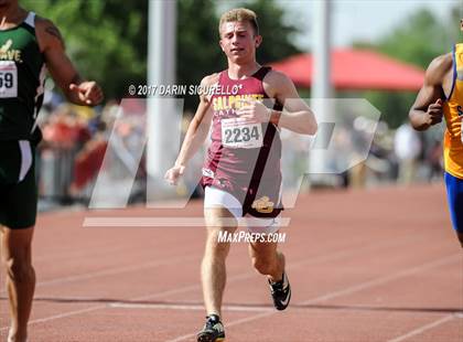
M261 67L245 79L232 79L228 71L219 74L212 96L212 145L203 167L203 186L213 186L234 195L243 206L243 216L276 217L281 203L281 139L271 122L239 118L241 99L256 99L281 110L270 99L262 79L270 67Z

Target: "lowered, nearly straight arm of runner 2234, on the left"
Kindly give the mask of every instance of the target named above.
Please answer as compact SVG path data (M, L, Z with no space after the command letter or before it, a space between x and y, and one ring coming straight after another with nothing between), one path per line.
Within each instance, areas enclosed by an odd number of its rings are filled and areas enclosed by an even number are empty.
M216 74L206 76L201 82L202 87L212 86L215 83ZM176 184L180 175L183 174L186 163L203 146L206 140L212 122L211 96L200 95L200 105L186 130L185 139L180 149L175 164L165 172L164 178L171 183Z

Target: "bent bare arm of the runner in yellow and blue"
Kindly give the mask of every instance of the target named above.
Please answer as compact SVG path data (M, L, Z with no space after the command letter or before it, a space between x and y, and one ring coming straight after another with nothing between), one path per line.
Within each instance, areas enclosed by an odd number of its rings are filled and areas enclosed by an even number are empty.
M442 99L445 98L442 84L452 70L452 55L434 58L429 65L423 85L409 111L411 126L417 130L427 130L442 121Z

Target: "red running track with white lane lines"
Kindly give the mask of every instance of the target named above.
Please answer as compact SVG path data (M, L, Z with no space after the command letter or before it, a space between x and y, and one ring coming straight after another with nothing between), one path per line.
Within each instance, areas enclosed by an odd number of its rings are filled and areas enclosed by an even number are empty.
M84 228L83 222L201 214L201 201L180 213L42 214L30 342L195 341L205 316L204 228ZM463 341L463 254L443 185L311 193L286 216L291 224L281 248L292 303L273 310L246 244L234 244L224 300L227 341ZM2 285L0 341L7 313Z

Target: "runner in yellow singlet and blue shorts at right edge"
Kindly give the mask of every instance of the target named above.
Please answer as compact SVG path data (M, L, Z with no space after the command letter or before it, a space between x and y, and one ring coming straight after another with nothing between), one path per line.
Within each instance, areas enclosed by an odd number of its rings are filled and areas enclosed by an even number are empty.
M463 20L462 20L463 21ZM427 130L445 117L444 180L453 228L463 247L463 44L434 58L410 109L411 125Z

